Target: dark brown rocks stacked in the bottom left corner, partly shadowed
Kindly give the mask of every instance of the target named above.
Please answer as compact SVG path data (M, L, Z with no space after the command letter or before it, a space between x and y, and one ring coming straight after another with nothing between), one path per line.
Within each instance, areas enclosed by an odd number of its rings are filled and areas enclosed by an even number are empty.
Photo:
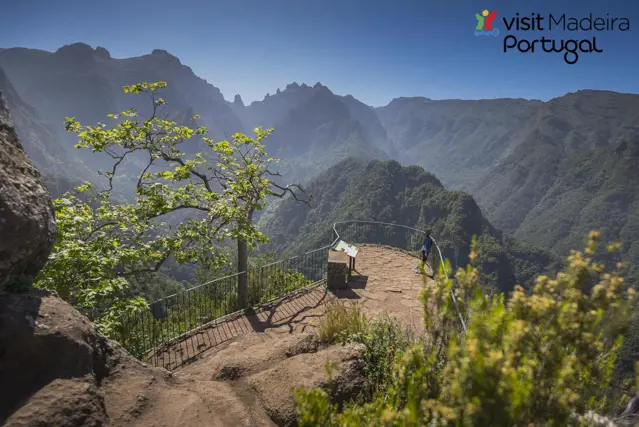
M96 386L109 350L90 322L46 292L0 297L2 425L103 425ZM3 424L3 422L6 422Z

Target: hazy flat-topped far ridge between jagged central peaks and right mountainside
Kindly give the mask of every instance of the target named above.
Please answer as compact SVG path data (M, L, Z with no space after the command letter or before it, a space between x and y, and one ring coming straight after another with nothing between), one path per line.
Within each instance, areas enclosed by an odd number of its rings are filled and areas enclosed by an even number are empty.
M465 187L515 143L541 101L398 98L376 112L398 160L423 165L449 186Z

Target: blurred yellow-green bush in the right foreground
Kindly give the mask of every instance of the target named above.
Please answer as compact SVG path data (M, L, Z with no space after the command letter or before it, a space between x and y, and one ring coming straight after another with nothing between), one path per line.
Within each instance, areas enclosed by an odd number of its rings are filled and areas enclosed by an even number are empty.
M577 426L606 408L634 291L593 261L599 233L530 293L486 297L472 265L423 293L428 339L399 354L368 403L342 413L321 390L298 393L301 426ZM609 250L615 250L615 246ZM457 304L450 290L457 294ZM460 330L460 314L467 329ZM582 424L580 424L582 423Z

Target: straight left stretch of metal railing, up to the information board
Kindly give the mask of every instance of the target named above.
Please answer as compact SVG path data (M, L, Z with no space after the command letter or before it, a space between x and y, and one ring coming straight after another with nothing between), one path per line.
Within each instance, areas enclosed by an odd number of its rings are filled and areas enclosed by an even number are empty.
M159 349L244 311L237 295L241 275L248 276L249 306L259 307L322 282L328 249L249 268L157 300L147 311L125 315L116 339L134 356L155 364Z

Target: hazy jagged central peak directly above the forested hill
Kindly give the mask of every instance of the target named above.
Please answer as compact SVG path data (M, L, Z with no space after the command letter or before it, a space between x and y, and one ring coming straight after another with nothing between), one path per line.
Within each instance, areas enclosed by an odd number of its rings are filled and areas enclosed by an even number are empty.
M238 97L231 105L248 127L275 129L267 148L291 179L309 179L348 156L387 159L392 153L371 107L321 83L291 83L247 107Z

